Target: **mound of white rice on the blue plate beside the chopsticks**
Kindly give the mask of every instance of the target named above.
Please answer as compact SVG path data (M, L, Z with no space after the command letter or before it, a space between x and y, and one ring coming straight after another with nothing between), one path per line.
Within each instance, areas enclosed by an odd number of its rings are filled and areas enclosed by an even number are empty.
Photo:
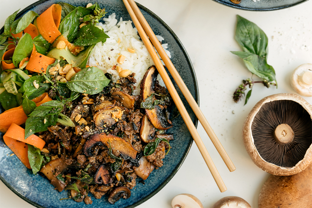
M110 73L114 83L119 79L118 72L112 70L114 65L134 72L134 78L137 80L137 88L134 90L134 95L137 95L140 92L139 84L146 70L151 65L154 65L154 62L149 56L143 42L140 40L137 29L132 27L132 21L123 21L120 18L118 22L115 17L116 15L113 13L108 18L103 19L105 21L104 24L98 24L110 38L107 38L104 44L99 42L95 45L87 65L96 66L103 70L103 72ZM164 40L161 36L157 36L157 38L159 41ZM170 52L166 50L168 44L162 44L162 46L169 58L171 58ZM128 48L134 49L135 52L130 53ZM123 64L117 63L117 58L120 55L126 57ZM158 80L160 85L165 86L160 76L158 76Z

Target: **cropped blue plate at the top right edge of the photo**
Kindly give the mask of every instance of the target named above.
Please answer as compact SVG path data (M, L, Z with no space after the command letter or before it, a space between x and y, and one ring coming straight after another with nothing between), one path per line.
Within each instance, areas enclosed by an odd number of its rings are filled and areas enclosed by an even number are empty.
M273 11L285 9L301 4L308 0L261 0L253 2L252 0L241 0L241 3L234 4L230 0L213 0L228 7L249 11Z

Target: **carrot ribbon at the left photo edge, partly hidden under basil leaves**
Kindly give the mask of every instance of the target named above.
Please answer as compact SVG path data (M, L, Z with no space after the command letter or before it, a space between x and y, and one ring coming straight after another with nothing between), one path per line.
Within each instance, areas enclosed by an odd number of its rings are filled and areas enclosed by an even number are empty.
M52 99L49 97L47 93L43 93L35 99L32 99L36 103L37 106L42 103L51 101ZM4 111L0 114L0 132L7 132L7 129L11 126L12 123L16 123L17 125L21 125L25 123L27 120L27 116L24 113L23 106L18 106L16 108L11 108Z

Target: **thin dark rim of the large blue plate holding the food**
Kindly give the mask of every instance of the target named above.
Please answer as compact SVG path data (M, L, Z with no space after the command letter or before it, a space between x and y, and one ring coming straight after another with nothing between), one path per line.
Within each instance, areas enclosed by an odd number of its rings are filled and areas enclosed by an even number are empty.
M43 2L45 2L46 0L40 0L37 1L31 5L29 5L28 7L26 7L25 9L23 9L22 11L18 12L18 14L22 14L24 12L26 12L27 10L30 10L32 7L35 7ZM173 37L175 38L175 40L177 41L179 47L182 49L183 54L185 55L185 57L187 58L188 61L188 65L190 66L190 69L192 70L192 75L193 75L193 82L194 82L194 87L195 87L195 100L197 102L197 104L199 105L199 93L198 93L198 85L197 85L197 78L196 78L196 74L195 74L195 70L193 67L192 62L190 61L190 57L188 56L188 53L186 52L184 46L182 45L181 41L179 40L178 36L171 30L171 28L165 23L163 22L162 19L160 19L156 14L154 14L154 12L150 11L148 8L142 6L141 4L137 3L138 7L140 9L143 9L145 12L149 13L152 17L154 17L155 19L157 19L159 22L161 22L161 24L163 24L163 26L173 35ZM0 34L2 34L4 31L4 27L2 27L0 29ZM198 123L198 119L195 117L195 121L194 121L194 125L197 128L197 123ZM140 204L144 203L145 201L149 200L152 196L154 196L156 193L158 193L158 191L160 191L172 178L173 176L178 172L178 170L180 169L182 163L184 162L186 156L188 155L188 152L190 151L190 148L192 146L193 143L193 139L189 141L188 143L188 148L187 151L184 152L182 159L180 160L180 162L178 163L177 167L174 169L174 171L172 172L172 174L167 178L166 181L164 181L157 189L155 189L149 196L144 197L142 200L134 203L133 205L127 206L125 208L133 208L136 206L139 206ZM26 197L22 196L20 193L18 193L14 188L12 188L12 186L7 183L7 181L4 180L4 178L2 178L0 176L0 180L11 190L13 191L17 196L19 196L21 199L23 199L24 201L27 201L29 204L31 204L32 206L38 207L38 208L48 208L48 207L42 207L40 205L38 205L37 203L34 203L33 201L30 201L29 199L27 199Z

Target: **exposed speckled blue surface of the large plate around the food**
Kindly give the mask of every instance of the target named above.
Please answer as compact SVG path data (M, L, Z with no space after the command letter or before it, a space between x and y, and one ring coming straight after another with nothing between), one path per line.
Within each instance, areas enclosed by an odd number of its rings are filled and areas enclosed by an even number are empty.
M41 14L46 8L50 7L53 3L59 2L58 0L47 0L39 1L20 12L23 15L28 10L33 10ZM64 2L73 4L75 6L85 6L90 0L64 0ZM106 15L116 13L117 19L123 17L124 20L130 19L130 16L124 7L121 0L105 0L98 1L101 7L105 7L108 12ZM165 38L165 42L168 43L168 50L171 52L171 60L178 72L180 73L188 89L192 93L195 100L198 103L198 89L197 80L193 66L189 60L189 57L182 46L181 42L173 31L157 17L153 12L147 8L139 5L141 12L149 22L150 26L154 30L156 35L161 35ZM2 33L2 30L0 33ZM172 77L170 77L171 80ZM173 82L174 83L174 82ZM178 86L174 83L176 89ZM197 119L192 109L187 104L180 90L178 90L180 97L183 100L186 109L188 110L193 122L197 125ZM3 109L0 106L0 113ZM62 200L61 198L67 198L67 191L59 193L54 190L54 186L50 182L39 175L33 175L22 162L16 157L10 157L12 151L6 147L3 142L3 133L0 133L0 179L18 196L25 201L29 202L33 206L40 208L77 208L77 207L88 207L88 208L130 208L138 206L144 201L148 200L154 194L156 194L178 171L182 165L190 147L192 144L192 137L188 132L188 129L183 122L181 116L173 121L174 127L169 129L169 133L174 133L175 140L171 141L172 150L164 158L164 166L159 170L155 170L151 173L149 178L145 180L145 185L139 183L137 179L137 186L131 191L131 197L127 200L121 199L111 205L107 201L107 196L102 197L98 200L90 194L93 203L92 205L86 205L84 202L77 203L73 200Z

